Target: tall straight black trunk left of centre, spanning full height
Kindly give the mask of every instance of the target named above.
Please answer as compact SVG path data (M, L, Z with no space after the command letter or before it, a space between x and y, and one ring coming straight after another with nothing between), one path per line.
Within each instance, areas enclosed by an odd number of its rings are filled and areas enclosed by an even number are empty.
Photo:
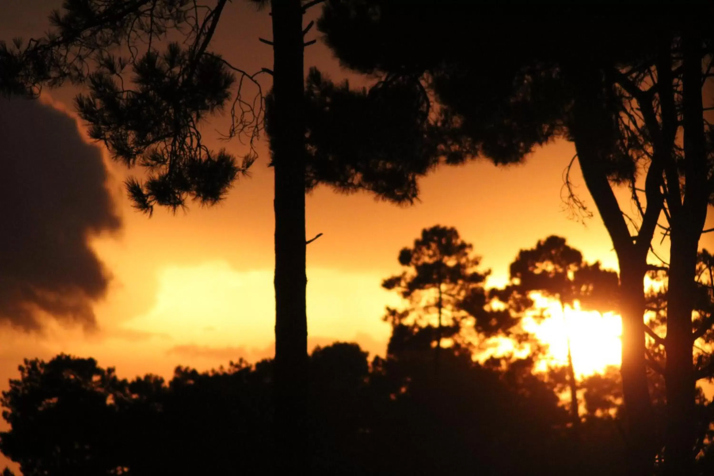
M275 171L275 442L280 475L309 474L303 11L272 0L271 151Z

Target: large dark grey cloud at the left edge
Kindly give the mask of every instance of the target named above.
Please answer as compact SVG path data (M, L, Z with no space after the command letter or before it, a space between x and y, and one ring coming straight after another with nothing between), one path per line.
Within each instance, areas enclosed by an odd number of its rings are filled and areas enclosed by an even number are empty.
M39 101L0 101L0 321L94 326L108 274L89 238L121 225L101 151Z

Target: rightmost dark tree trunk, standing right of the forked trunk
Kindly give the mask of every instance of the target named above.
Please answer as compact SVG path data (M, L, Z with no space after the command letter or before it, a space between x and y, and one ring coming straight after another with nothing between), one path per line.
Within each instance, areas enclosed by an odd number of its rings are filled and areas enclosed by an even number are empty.
M691 475L695 455L695 378L692 311L699 238L709 201L703 121L702 41L683 38L683 128L685 196L672 216L667 300L667 425L665 474ZM671 207L670 207L671 208Z

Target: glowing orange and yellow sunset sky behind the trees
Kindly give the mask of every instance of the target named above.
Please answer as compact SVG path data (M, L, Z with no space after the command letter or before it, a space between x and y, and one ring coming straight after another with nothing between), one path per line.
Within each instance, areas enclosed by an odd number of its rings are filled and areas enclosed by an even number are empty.
M0 36L11 39L39 36L48 26L47 14L61 2L4 3ZM271 36L267 12L235 1L226 15L216 35L216 51L247 71L271 67L271 49L258 41L258 37ZM306 49L308 66L318 66L332 79L363 81L341 71L320 42ZM264 80L267 89L270 83L268 78ZM50 156L23 160L53 160L52 151L67 147L69 142L50 133L51 121L64 116L63 131L84 137L81 124L79 129L67 126L68 117L74 118L71 100L76 92L72 88L47 91L41 105L0 108L0 117L5 115L3 123L14 121L14 116L8 115L16 108L33 111L28 121L44 118L36 120L39 125L34 130L24 133L0 130L1 143L10 144L12 151L36 151L39 149L33 147L40 143L44 145L41 150L49 151ZM214 129L225 131L226 127L226 119L217 118L206 127L206 133L215 137ZM55 139L59 143L53 143ZM99 146L73 144L69 153L96 157L92 148ZM238 141L214 144L216 148L225 146L237 156L246 153ZM11 164L19 159L4 149L2 168L14 170ZM49 359L60 352L92 356L102 366L116 366L119 375L126 378L144 373L168 377L178 364L205 370L240 357L254 362L271 356L273 176L267 167L264 140L259 153L251 177L239 179L218 206L190 206L175 216L157 210L148 218L131 208L121 185L131 173L141 171L126 171L101 151L109 170L104 186L114 200L114 213L121 225L117 222L117 226L102 227L116 229L91 238L91 247L111 275L106 296L94 304L97 326L88 329L47 321L39 332L24 332L5 325L0 333L0 388L6 388L8 378L17 375L22 358ZM308 245L310 347L356 340L373 354L383 353L389 327L381 316L385 305L400 302L396 295L381 289L381 280L399 271L398 251L428 226L454 226L473 243L475 252L483 256L483 268L492 270L490 285L506 282L508 265L519 249L530 248L551 234L565 236L568 244L583 251L586 260L601 260L605 267L615 268L610 239L577 166L573 182L595 216L583 224L569 218L565 211L560 193L563 170L574 153L570 143L555 142L536 151L520 166L497 168L476 161L441 168L423 179L421 201L408 207L375 201L366 194L344 196L318 188L307 201L308 238L323 233ZM0 174L0 181L13 180L16 176L12 173ZM7 185L4 182L2 186ZM32 185L29 181L14 183L26 193L31 192ZM78 181L76 186L91 188L98 183L83 185ZM627 196L623 191L623 203ZM2 207L0 210L10 208L7 204ZM13 233L12 226L3 228L4 233ZM706 237L703 239L708 241L701 245L712 248L714 243ZM2 258L0 263L4 263ZM568 329L578 373L618 363L616 316L568 311L563 320L557 310L553 313L551 320L533 330L550 343L556 358L565 358Z

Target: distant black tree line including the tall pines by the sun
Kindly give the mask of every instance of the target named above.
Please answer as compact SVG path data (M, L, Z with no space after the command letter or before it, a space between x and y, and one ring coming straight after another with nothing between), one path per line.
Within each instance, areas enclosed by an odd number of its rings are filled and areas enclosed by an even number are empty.
M304 437L316 474L626 474L616 373L575 384L567 365L535 371L545 349L521 326L535 305L531 283L563 283L565 272L544 275L525 256L548 248L554 262L575 258L568 265L580 270L580 253L551 236L521 250L513 283L487 290L488 271L478 271L471 248L456 229L435 226L399 253L409 269L383 286L410 304L386 309L385 358L368 360L356 343L312 351ZM578 289L590 295L609 284L588 282L597 284ZM474 360L495 338L517 340L528 356ZM273 474L273 366L177 367L166 382L120 379L114 368L66 354L25 360L0 400L11 425L0 450L24 475ZM577 423L562 398L570 385L584 390Z

